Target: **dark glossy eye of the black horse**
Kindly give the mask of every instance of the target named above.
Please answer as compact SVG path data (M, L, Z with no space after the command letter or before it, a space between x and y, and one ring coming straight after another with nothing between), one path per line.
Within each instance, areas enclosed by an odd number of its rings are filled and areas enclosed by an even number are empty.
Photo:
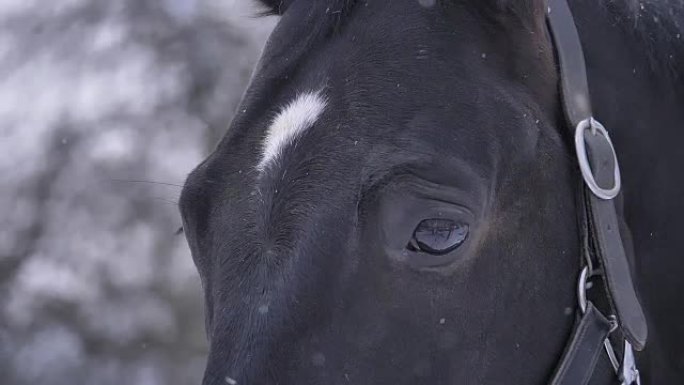
M451 219L425 219L413 231L407 248L433 255L456 250L468 237L468 225Z

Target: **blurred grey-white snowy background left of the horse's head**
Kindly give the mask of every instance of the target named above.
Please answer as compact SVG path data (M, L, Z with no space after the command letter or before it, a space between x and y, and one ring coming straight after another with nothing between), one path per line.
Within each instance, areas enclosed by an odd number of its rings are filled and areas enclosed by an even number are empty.
M0 383L199 384L176 202L276 20L248 0L0 0Z

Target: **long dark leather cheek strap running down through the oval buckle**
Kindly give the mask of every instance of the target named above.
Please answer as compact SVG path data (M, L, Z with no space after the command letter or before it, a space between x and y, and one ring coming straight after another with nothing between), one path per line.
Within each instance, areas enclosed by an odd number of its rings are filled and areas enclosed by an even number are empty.
M584 54L567 0L550 0L547 20L560 66L561 96L566 118L575 136L580 122L592 118ZM587 157L597 184L610 188L618 167L612 145L599 133L584 132ZM606 292L622 333L637 350L645 347L648 330L646 318L634 290L619 219L612 200L597 197L585 187L590 243L598 258Z

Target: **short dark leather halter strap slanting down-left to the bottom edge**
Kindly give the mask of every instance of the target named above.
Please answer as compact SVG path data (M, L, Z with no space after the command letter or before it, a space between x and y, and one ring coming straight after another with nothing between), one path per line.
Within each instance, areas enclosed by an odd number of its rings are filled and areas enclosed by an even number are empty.
M589 302L550 385L589 383L602 352L603 341L608 337L610 329L610 321Z

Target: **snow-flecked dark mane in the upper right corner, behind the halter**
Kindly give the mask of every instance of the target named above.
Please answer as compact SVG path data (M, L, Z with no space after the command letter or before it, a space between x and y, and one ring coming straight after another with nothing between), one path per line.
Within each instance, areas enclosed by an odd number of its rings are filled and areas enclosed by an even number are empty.
M602 0L607 20L643 47L650 70L680 82L684 75L684 0ZM681 84L684 85L684 84Z

